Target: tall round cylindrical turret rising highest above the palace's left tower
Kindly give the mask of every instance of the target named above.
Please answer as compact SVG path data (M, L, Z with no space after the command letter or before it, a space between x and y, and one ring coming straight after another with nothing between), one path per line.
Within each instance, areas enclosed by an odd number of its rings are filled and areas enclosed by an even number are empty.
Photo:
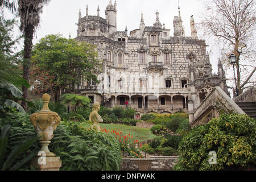
M112 1L109 1L109 5L106 7L106 20L108 23L109 37L114 38L117 32L117 3L112 5Z

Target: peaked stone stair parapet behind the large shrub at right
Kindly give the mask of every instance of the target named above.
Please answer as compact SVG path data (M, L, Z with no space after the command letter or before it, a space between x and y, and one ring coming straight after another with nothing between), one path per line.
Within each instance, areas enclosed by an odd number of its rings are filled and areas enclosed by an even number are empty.
M245 114L219 86L216 86L200 106L193 113L189 113L189 125L206 124L221 114L231 113Z

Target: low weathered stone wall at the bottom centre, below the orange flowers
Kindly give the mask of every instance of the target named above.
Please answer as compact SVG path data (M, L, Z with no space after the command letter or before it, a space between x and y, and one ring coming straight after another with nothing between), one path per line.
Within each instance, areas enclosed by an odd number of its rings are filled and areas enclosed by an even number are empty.
M171 171L178 156L157 156L155 158L123 158L122 171Z

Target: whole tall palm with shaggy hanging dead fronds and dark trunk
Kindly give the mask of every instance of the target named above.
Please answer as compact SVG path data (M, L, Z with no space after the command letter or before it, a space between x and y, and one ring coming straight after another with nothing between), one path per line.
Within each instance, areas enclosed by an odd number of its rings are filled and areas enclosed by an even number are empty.
M24 34L23 78L27 81L30 77L32 40L35 28L39 26L42 5L50 0L18 0L18 13L20 16L20 31ZM27 99L28 88L22 87L23 98ZM27 110L27 102L22 102L22 107Z

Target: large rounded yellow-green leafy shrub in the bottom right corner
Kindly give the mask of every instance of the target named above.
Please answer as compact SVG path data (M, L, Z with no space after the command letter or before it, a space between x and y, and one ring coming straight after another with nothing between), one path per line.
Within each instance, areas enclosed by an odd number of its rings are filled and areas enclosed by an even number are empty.
M176 170L248 170L256 165L256 120L245 114L224 114L199 125L179 144ZM209 152L216 152L216 164Z

